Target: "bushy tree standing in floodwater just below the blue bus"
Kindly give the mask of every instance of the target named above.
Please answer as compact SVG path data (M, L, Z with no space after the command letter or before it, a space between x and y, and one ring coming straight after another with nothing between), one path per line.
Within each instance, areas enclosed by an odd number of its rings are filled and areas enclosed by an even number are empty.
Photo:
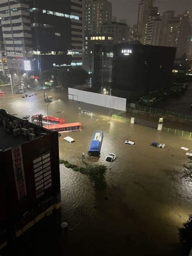
M105 180L107 167L105 165L87 166L84 174L90 178L92 186L95 190L107 188Z

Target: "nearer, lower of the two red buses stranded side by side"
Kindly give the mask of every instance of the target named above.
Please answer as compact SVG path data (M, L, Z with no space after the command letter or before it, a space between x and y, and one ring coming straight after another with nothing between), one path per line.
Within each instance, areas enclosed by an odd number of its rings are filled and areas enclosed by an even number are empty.
M43 128L48 129L48 126L43 126ZM71 124L60 124L60 125L49 125L49 130L57 132L75 132L81 131L81 123L71 123Z

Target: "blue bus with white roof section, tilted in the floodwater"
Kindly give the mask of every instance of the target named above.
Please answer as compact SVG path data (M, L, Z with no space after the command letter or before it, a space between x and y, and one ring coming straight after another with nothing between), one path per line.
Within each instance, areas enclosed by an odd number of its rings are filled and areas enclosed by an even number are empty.
M99 156L103 139L103 132L94 132L90 149L87 152L89 156Z

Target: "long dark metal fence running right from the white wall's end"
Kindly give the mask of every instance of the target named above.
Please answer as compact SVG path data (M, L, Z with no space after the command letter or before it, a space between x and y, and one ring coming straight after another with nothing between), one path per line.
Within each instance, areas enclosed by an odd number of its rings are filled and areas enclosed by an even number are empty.
M161 115L164 117L175 117L177 119L192 121L192 115L177 113L177 112L169 111L165 109L156 109L156 108L137 105L133 103L128 103L127 108L132 109L133 113L138 113L138 111L140 111L143 113L151 113L151 114Z

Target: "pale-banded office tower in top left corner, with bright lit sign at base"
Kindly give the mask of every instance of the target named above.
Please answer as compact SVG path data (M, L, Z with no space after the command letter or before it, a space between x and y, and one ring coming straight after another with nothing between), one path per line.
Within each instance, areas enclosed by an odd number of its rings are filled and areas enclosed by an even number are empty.
M1 0L0 16L9 72L20 75L22 70L33 70L29 1Z

